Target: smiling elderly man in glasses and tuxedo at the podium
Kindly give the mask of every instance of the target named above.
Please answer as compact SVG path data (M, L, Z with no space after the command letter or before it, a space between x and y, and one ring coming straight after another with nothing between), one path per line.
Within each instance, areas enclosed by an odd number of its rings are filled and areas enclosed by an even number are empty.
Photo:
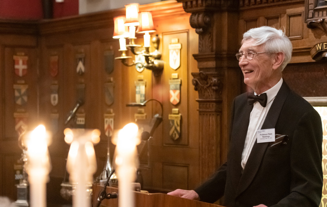
M224 196L228 207L319 206L321 119L282 78L291 54L281 30L264 26L244 33L236 58L254 92L233 102L227 162L195 190L168 195L204 202Z

